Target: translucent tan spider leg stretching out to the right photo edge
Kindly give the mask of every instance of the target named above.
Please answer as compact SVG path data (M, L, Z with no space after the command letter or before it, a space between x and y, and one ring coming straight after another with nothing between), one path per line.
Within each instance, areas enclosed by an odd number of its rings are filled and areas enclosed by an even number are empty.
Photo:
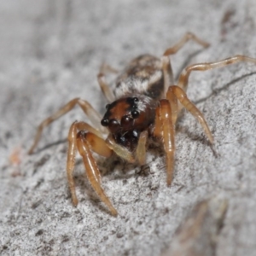
M230 57L222 61L214 61L209 63L198 63L198 64L190 65L189 67L186 67L183 70L183 72L180 74L177 85L180 88L182 88L184 91L187 91L189 75L192 71L207 71L212 68L225 67L227 65L234 64L241 61L252 62L256 64L256 59L253 59L244 55L236 55L234 57Z

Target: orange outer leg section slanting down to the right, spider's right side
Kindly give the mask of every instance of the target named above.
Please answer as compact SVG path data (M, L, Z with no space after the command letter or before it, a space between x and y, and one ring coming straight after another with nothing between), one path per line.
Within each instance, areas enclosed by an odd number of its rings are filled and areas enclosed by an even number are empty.
M190 113L192 113L195 116L195 118L200 122L205 133L207 134L207 137L208 137L210 143L213 143L212 132L210 131L210 129L207 125L206 119L204 118L201 111L195 107L195 104L193 104L192 102L189 101L189 98L187 97L184 90L182 90L177 85L170 86L168 91L169 90L177 97L179 102L182 103L183 107L186 108Z

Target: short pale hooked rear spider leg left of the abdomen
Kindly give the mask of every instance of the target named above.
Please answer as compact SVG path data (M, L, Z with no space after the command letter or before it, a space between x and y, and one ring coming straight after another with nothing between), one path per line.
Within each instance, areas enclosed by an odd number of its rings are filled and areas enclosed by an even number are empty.
M102 93L106 97L108 102L111 103L114 101L115 97L113 96L113 91L110 90L106 82L106 78L105 78L106 73L118 73L118 71L113 67L110 67L109 65L106 65L103 63L102 67L100 68L100 73L98 73L97 75L98 83L101 86Z

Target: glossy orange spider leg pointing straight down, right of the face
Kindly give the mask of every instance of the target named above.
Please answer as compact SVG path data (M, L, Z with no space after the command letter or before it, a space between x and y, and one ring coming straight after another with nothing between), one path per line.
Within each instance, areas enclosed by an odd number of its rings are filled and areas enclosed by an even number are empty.
M160 124L164 149L166 152L167 185L170 186L173 177L174 153L175 153L175 128L172 123L172 109L168 100L160 100L159 115L156 115L156 123ZM159 119L159 120L157 120Z

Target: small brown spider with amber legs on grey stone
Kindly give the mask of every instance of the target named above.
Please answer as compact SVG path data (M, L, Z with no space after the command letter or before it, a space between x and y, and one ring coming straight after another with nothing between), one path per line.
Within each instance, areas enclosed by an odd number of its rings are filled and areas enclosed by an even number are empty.
M92 108L89 102L75 98L49 118L44 119L38 126L37 135L28 154L32 154L37 147L44 127L76 105L82 108L95 126L94 128L86 122L75 121L68 132L67 181L73 206L76 207L79 202L73 179L77 151L83 158L86 174L92 188L101 201L108 206L113 216L116 216L117 210L102 189L101 173L92 151L106 158L112 154L117 154L129 163L143 166L148 137L159 139L163 143L166 154L166 181L167 185L170 186L174 169L175 125L183 108L195 116L205 131L209 142L213 143L212 133L203 114L186 96L190 73L224 67L240 61L256 64L256 59L235 55L222 61L190 65L183 69L177 84L172 85L175 83L169 56L176 54L189 40L195 41L204 48L209 46L207 42L196 37L195 34L187 32L177 44L166 49L160 58L153 55L140 55L132 60L117 76L113 91L110 90L105 76L108 72L115 72L115 70L109 66L102 66L97 80L108 100L106 113L103 117Z

